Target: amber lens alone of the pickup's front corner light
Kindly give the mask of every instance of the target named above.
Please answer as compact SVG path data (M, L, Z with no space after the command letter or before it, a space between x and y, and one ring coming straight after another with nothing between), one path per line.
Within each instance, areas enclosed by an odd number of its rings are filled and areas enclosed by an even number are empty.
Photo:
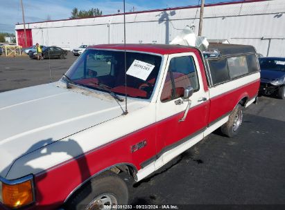
M2 183L3 204L10 208L19 208L33 202L33 185L28 180L20 184Z

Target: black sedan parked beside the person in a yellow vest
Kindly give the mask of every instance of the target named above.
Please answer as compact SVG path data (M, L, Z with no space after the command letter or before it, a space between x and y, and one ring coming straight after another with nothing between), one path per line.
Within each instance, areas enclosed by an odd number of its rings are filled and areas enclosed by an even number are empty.
M31 59L36 59L37 53L31 52L29 56ZM62 48L59 48L56 46L42 48L42 58L43 59L48 59L48 58L65 59L65 56L67 56L67 50L63 50Z

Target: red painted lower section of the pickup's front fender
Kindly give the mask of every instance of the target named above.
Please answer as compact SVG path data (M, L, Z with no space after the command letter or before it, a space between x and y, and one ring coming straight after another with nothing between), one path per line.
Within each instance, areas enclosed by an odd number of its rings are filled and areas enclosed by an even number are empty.
M35 176L37 205L60 204L69 193L90 176L118 163L130 163L137 170L139 164L155 156L156 126L152 124L121 137L112 144L89 151L85 155L64 162ZM131 146L146 140L147 145L131 153ZM55 208L55 206L53 206Z

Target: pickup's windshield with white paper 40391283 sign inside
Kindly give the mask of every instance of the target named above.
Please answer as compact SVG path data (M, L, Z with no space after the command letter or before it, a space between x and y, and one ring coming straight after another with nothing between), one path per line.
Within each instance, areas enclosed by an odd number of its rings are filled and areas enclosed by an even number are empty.
M146 53L88 49L78 57L66 75L72 82L116 95L149 99L153 93L162 57ZM127 87L125 88L125 75ZM100 86L105 86L105 90ZM106 92L106 91L105 91Z

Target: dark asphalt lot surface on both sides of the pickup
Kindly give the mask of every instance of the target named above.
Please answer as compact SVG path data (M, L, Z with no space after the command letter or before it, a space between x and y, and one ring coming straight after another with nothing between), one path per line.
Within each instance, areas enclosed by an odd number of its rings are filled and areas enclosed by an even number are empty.
M75 59L69 54L51 60L51 81ZM0 91L49 81L47 60L0 57ZM150 178L129 185L132 204L285 204L285 100L261 97L245 111L238 136L216 131Z

